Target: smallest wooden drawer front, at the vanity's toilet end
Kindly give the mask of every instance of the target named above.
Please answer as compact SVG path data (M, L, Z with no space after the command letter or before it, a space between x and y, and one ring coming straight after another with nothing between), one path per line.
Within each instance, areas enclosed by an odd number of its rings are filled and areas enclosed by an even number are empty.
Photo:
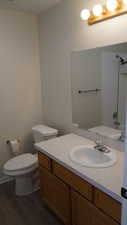
M41 152L38 152L39 165L51 171L51 159Z

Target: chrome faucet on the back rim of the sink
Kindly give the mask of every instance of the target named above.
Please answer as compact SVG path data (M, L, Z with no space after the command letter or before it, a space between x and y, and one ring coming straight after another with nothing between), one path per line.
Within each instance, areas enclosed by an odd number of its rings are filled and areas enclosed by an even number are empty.
M94 146L94 148L100 152L109 153L110 150L105 145L103 145L102 137L99 134L97 134L97 136L99 138L96 139L96 141L95 141L96 145Z

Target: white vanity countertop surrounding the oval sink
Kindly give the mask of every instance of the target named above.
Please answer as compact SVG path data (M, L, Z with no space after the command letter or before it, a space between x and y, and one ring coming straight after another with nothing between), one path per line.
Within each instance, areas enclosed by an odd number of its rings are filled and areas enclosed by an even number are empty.
M35 148L112 198L122 202L123 152L116 150L118 161L112 167L86 168L73 163L68 156L68 152L73 147L83 144L93 144L93 142L76 134L68 134L35 144Z

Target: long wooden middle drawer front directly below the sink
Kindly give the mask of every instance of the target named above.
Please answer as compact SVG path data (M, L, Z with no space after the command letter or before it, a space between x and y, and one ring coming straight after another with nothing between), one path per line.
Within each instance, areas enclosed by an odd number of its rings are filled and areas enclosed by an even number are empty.
M93 187L79 176L53 161L53 173L70 185L73 189L80 192L88 200L92 201Z

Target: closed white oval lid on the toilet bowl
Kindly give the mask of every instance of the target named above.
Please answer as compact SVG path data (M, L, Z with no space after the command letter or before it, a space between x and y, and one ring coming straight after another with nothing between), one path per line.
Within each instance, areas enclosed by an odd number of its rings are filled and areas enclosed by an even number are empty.
M4 169L9 171L22 170L34 166L37 162L37 156L26 153L10 159L7 163L5 163Z

